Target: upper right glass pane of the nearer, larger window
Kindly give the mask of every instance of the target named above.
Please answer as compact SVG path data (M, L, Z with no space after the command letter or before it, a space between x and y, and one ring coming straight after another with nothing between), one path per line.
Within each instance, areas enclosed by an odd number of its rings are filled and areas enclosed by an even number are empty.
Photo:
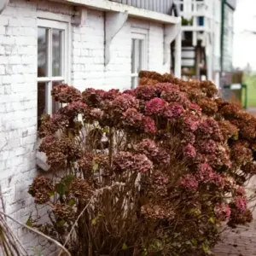
M58 29L52 30L52 75L53 77L61 76L61 50L62 31Z

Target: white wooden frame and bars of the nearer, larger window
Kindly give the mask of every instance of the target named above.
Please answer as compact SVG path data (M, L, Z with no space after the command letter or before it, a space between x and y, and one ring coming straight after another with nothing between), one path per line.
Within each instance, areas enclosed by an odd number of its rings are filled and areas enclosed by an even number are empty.
M53 77L52 76L52 37L48 39L48 51L47 51L47 59L46 59L46 68L47 68L47 77L38 77L38 83L46 84L46 113L52 114L52 84L53 82L61 82L68 83L69 80L69 52L70 52L70 23L58 20L47 20L44 18L38 18L38 28L48 28L59 29L64 31L64 35L62 38L62 49L61 49L61 76ZM50 49L50 50L49 50Z

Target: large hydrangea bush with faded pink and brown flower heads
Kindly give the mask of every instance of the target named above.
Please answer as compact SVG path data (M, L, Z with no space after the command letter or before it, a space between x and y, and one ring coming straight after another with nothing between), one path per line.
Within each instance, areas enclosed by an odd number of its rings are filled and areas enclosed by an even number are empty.
M222 222L252 220L256 119L211 82L141 72L135 90L52 96L65 107L39 136L53 178L29 193L49 208L37 227L73 255L206 255Z

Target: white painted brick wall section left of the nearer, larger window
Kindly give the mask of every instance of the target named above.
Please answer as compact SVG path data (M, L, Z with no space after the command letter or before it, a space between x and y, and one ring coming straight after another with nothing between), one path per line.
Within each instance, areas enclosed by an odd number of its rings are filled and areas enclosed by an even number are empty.
M0 15L0 185L4 211L26 223L33 210L27 194L36 170L37 141L37 15L56 6L11 1ZM58 5L67 15L66 6ZM62 10L61 10L62 9ZM28 253L46 242L10 221ZM45 255L54 248L48 244ZM1 254L1 252L0 252Z

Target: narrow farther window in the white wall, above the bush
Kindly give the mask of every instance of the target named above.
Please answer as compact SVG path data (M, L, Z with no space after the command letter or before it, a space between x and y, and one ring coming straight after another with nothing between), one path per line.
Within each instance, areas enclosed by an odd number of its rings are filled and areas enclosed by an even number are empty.
M137 87L138 73L145 69L147 63L147 36L143 33L131 35L131 89Z

